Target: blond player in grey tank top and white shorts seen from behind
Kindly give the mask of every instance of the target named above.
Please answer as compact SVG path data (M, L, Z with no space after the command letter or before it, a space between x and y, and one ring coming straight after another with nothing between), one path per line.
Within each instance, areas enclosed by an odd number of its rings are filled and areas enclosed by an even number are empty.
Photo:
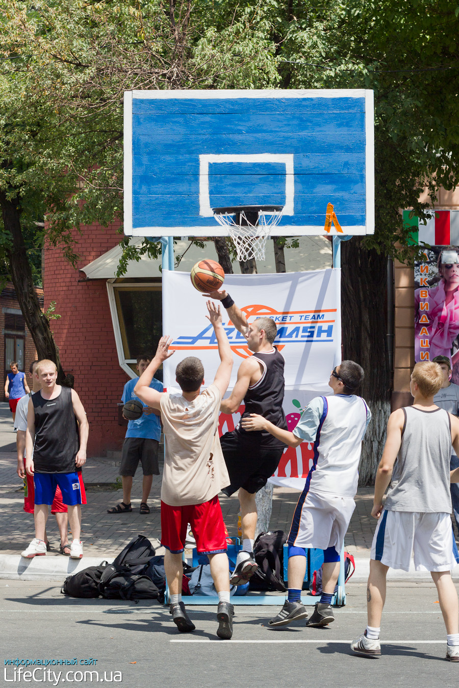
M367 583L367 627L351 649L361 656L381 655L379 633L389 568L427 570L438 590L447 630L446 658L459 662L459 603L451 570L459 561L451 528L449 485L451 442L459 453L459 420L434 403L442 385L438 363L416 363L410 390L414 404L397 409L387 423L387 440L376 473L372 516L378 519ZM391 482L392 481L392 482ZM383 495L387 486L385 505Z

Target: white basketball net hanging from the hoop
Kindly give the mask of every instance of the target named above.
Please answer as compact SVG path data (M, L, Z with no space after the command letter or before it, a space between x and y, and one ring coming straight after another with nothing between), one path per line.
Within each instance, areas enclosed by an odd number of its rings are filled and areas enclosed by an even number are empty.
M236 224L235 218L239 215L239 222ZM237 260L247 261L251 258L264 260L266 240L270 236L271 230L279 224L282 211L258 211L258 222L252 224L246 217L244 211L239 213L215 213L215 219L222 227L228 228L228 234L236 247Z

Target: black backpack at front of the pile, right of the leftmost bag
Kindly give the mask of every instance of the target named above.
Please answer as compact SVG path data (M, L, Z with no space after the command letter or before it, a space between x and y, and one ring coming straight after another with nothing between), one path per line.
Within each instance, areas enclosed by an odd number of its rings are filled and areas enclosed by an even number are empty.
M148 576L133 574L129 566L109 564L98 584L105 599L138 600L157 599L159 590Z

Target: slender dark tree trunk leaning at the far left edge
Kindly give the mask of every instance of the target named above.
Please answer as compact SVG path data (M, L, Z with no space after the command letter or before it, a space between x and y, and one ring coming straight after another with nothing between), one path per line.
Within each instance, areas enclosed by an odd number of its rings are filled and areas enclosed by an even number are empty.
M8 200L6 193L1 191L0 206L3 224L6 231L10 232L12 236L12 244L8 248L7 254L10 261L11 279L14 284L14 290L16 290L21 312L32 335L39 359L49 358L50 361L56 363L58 383L63 384L65 383L65 373L59 359L58 348L50 330L50 321L41 312L39 299L34 289L32 270L30 269L21 230L19 198ZM67 380L68 383L69 380Z

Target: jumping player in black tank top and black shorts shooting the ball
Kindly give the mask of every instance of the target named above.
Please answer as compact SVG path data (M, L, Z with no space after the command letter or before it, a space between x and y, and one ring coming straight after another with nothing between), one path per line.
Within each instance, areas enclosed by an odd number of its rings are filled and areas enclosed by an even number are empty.
M222 400L220 410L223 413L236 413L244 401L241 422L250 413L260 413L278 427L287 429L282 408L284 358L273 346L277 334L276 323L271 318L257 318L249 325L246 316L223 289L204 295L222 302L229 319L246 338L248 348L253 352L239 366L233 391L227 399ZM237 555L232 585L246 583L257 570L253 556L257 528L255 495L277 469L285 449L284 442L268 432L247 433L241 422L233 432L225 433L220 438L231 480L223 492L229 496L238 491L241 506L242 551Z

